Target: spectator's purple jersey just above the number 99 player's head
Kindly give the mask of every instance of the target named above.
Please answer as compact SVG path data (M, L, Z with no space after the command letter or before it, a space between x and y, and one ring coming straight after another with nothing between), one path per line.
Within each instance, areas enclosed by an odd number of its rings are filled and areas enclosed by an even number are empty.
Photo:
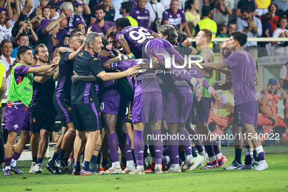
M136 6L132 9L132 11L130 12L129 16L133 17L134 19L136 19L138 21L138 26L140 27L145 27L148 28L149 27L149 11L147 9L144 8L143 11L141 11L141 9Z

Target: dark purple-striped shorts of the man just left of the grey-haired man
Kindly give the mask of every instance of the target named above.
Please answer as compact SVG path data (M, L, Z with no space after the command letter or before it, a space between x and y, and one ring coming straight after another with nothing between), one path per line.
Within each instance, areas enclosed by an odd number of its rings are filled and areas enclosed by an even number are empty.
M71 101L64 97L54 96L53 102L57 111L57 118L61 121L61 126L67 127L67 122L73 121Z

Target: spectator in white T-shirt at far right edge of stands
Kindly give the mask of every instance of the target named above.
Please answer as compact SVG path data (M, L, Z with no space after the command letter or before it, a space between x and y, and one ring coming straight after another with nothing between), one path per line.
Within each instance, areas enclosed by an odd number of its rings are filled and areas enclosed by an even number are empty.
M278 21L279 28L277 28L273 32L273 38L287 38L288 37L288 30L285 29L287 26L287 18L282 16L279 18ZM275 48L275 55L287 55L288 53L288 42L283 41L272 41L271 45L276 45Z

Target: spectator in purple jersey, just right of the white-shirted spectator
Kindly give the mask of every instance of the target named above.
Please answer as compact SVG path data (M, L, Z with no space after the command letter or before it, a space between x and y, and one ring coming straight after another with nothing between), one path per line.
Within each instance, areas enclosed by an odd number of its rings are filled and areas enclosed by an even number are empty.
M187 36L191 38L191 32L185 19L184 11L179 9L179 7L179 0L172 0L170 3L170 9L163 12L162 22L164 24L175 24L179 28L179 31L183 31L184 28Z

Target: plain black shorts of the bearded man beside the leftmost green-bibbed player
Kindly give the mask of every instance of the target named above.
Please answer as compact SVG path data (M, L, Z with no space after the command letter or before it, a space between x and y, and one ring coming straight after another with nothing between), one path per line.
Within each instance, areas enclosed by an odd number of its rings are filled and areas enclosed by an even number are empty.
M31 107L31 132L40 133L41 129L52 131L56 120L54 108Z

